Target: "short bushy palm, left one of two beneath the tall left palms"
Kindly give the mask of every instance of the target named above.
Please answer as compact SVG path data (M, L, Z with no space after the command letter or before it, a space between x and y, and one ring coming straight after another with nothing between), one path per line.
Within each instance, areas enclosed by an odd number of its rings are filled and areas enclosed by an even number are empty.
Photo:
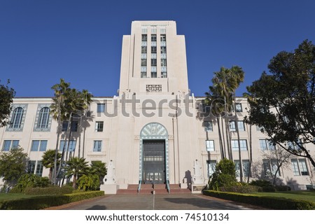
M76 188L76 181L79 179L80 175L87 173L88 162L84 158L73 157L66 162L66 176L73 176L72 187Z

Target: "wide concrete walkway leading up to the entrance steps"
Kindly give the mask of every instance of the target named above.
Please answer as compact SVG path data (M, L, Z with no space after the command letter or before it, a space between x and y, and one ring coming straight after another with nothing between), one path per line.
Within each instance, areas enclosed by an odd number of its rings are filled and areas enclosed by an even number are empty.
M66 210L244 210L262 209L195 194L107 195L96 200L56 208Z

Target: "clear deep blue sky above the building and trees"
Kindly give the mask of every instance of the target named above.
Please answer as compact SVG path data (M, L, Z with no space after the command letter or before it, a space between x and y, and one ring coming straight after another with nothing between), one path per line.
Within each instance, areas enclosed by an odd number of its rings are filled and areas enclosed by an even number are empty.
M241 66L246 85L281 50L315 43L314 0L0 0L0 79L16 97L52 97L59 78L94 96L119 87L121 43L133 20L175 20L186 36L191 92L214 71Z

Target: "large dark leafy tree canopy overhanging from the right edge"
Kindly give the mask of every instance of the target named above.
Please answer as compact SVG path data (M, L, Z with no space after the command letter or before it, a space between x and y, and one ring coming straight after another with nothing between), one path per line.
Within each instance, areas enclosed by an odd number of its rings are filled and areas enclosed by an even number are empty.
M247 87L246 121L260 127L274 144L315 167L307 144L315 144L315 45L303 41L293 52L282 51Z

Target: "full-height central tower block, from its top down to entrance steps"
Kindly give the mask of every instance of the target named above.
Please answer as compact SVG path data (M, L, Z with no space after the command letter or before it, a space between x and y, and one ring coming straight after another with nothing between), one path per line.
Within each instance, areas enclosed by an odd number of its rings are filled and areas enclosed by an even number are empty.
M123 36L117 99L122 103L113 118L110 159L117 164L118 188L187 183L199 152L191 134L185 36L177 35L176 22L132 22L131 34Z

